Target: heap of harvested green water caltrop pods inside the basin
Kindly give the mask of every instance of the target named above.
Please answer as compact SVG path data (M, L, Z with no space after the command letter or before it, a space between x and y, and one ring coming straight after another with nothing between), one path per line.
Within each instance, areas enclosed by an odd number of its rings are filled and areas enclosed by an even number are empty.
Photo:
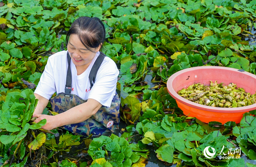
M210 86L201 83L190 85L178 91L178 94L192 102L212 107L234 108L256 103L256 94L251 95L234 83L224 85L223 82L210 82Z

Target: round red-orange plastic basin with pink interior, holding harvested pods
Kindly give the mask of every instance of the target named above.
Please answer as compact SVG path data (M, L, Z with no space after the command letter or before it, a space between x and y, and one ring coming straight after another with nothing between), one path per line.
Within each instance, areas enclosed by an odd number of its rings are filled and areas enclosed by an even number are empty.
M177 94L182 88L187 88L193 83L200 82L204 85L210 85L209 81L224 82L225 85L233 82L237 87L244 88L245 92L251 95L256 92L256 75L249 72L240 72L237 69L229 67L202 66L192 67L176 72L167 81L169 94L176 100L178 107L185 115L196 117L202 122L209 123L218 121L222 124L227 121L240 123L243 114L256 109L256 104L237 108L220 108L200 105L191 102Z

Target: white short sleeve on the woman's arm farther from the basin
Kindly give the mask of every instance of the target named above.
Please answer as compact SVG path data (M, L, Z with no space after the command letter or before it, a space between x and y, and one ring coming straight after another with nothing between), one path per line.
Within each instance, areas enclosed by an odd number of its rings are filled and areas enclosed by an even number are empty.
M56 87L53 77L53 69L49 57L45 66L45 70L43 71L43 74L40 77L40 81L35 89L35 93L46 99L50 99L55 92Z

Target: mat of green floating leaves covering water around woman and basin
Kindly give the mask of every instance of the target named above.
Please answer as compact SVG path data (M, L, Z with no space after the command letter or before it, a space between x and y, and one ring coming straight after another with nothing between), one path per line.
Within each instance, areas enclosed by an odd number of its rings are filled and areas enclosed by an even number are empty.
M255 110L240 124L205 124L182 114L166 82L197 66L255 75L255 10L256 0L1 1L0 163L141 167L155 155L159 166L254 166L247 160L256 159ZM37 103L33 91L48 56L66 49L65 33L80 16L103 21L103 52L120 70L117 89L126 126L120 137L82 139L58 129L42 131L45 122L30 121ZM48 110L50 105L43 113Z

